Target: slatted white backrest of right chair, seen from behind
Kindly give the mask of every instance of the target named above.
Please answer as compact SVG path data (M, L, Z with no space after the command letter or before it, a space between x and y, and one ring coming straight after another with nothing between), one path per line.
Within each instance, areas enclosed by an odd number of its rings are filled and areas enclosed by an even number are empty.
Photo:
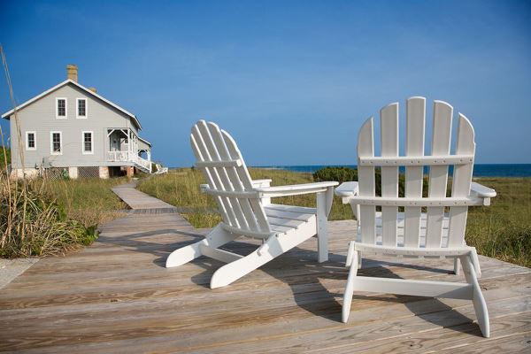
M381 244L419 247L422 207L427 207L427 248L443 246L445 207L450 207L447 247L462 246L465 237L475 153L470 121L459 113L454 155L450 155L453 108L435 101L431 155L425 156L426 99L412 97L406 104L405 156L399 156L398 104L381 109L381 157L374 156L373 118L367 119L358 134L358 188L362 242L374 244L376 205L381 205ZM429 166L427 197L422 198L424 166ZM449 165L454 165L451 196L446 196ZM381 196L375 196L375 167L381 167ZM405 166L404 197L398 196L399 167ZM362 202L366 201L366 202ZM370 203L369 203L370 202ZM404 242L398 244L398 206L404 206Z

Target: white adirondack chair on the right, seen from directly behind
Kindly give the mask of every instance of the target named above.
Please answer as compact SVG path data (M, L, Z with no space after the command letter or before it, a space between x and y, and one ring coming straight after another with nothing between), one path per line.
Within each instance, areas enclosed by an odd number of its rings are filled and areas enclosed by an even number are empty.
M373 118L358 134L358 182L343 183L335 193L350 203L358 219L358 237L350 242L349 278L342 304L342 321L350 314L354 290L397 295L470 299L481 333L489 337L489 313L481 294L476 250L465 242L468 206L489 205L494 189L472 182L475 151L473 127L459 113L455 154L450 154L453 108L435 101L431 155L424 154L426 99L412 97L406 105L405 156L398 153L398 104L381 109L381 156L374 156ZM422 197L424 166L429 166L428 196ZM451 196L446 196L448 166L454 166ZM375 196L374 167L381 166L381 195ZM405 196L398 197L398 167L405 166ZM377 212L376 205L381 206ZM398 207L404 212L398 212ZM423 212L426 208L427 212ZM445 213L445 209L449 212ZM466 283L412 281L358 276L362 254L404 258L460 259Z

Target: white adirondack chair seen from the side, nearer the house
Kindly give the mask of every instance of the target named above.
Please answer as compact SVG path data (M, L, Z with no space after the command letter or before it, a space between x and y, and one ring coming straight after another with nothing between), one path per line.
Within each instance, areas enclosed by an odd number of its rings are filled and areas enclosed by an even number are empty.
M271 180L252 181L242 154L233 138L212 122L200 120L190 136L208 184L205 193L214 196L223 221L200 242L174 250L166 267L181 266L194 258L207 256L226 262L211 279L211 288L226 286L259 266L280 256L310 237L318 236L318 260L327 252L327 216L332 207L337 182L307 183L269 187ZM271 197L316 193L317 208L272 204ZM219 247L238 237L262 239L262 245L247 256Z

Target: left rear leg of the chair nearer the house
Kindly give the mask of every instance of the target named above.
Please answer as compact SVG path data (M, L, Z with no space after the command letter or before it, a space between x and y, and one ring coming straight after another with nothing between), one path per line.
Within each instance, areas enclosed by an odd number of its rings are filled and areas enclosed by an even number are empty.
M201 257L202 252L200 245L202 244L215 249L227 242L233 241L237 237L238 235L230 234L229 232L225 231L223 227L218 225L217 227L214 227L212 231L206 235L206 237L204 237L203 240L189 244L185 247L181 247L178 250L173 250L168 258L166 258L165 266L166 268L182 266L191 260Z

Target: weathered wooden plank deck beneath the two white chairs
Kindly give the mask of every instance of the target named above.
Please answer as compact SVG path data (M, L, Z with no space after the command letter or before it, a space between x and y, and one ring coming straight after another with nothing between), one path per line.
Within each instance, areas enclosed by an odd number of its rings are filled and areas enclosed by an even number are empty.
M132 187L129 187L132 189ZM124 190L123 190L124 191ZM142 206L142 193L134 195ZM144 195L145 196L145 195ZM146 207L158 208L146 198ZM142 209L140 209L142 210ZM209 289L217 261L165 269L197 230L172 211L131 213L102 227L92 246L45 258L0 290L0 350L66 353L530 352L531 270L482 258L491 338L473 323L471 302L356 293L342 324L347 242L355 222L330 223L330 261L315 262L312 239L227 288ZM248 252L255 241L227 250ZM361 274L447 279L424 260L397 267L364 260Z

